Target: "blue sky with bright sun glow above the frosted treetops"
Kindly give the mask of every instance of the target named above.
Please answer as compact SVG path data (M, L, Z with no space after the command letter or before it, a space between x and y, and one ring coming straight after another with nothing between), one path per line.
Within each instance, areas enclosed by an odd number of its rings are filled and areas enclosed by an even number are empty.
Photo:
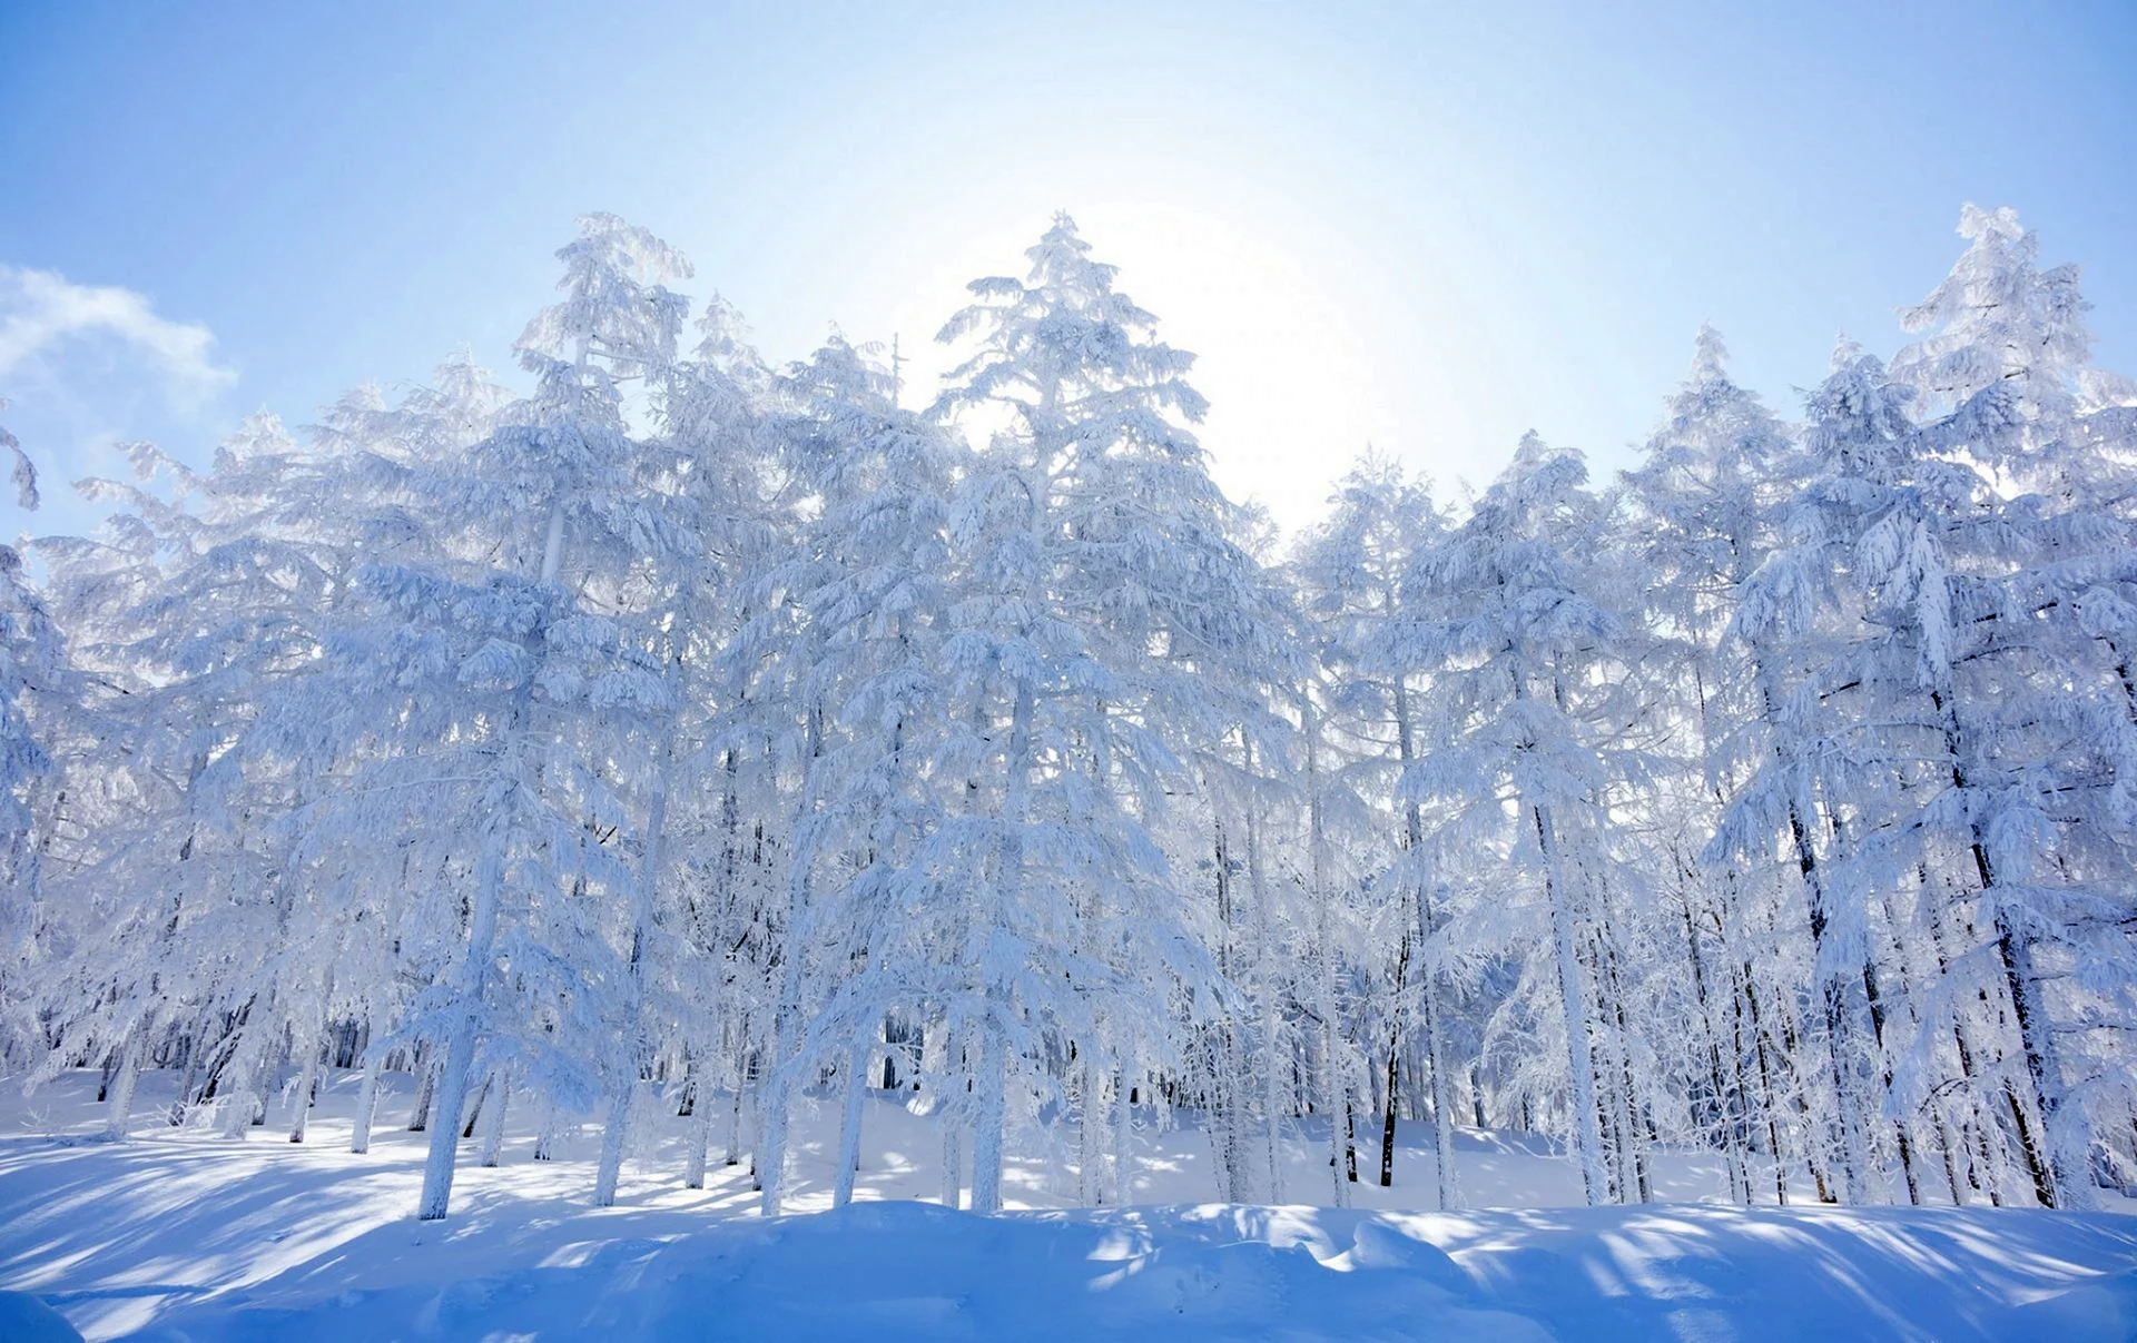
M13 0L0 418L58 485L506 367L586 209L771 359L836 322L925 376L1066 207L1201 352L1218 478L1299 523L1368 438L1628 463L1701 320L1793 410L1836 331L1900 342L1962 201L2081 263L2137 372L2137 4Z

